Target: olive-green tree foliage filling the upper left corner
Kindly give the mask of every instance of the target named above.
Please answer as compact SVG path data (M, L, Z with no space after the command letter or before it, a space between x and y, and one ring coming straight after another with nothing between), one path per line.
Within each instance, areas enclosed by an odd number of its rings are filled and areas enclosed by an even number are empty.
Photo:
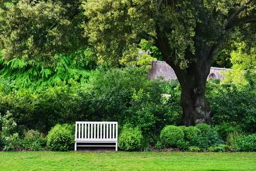
M83 47L87 41L80 36L80 4L20 0L2 6L0 45L4 58L53 62L55 54L72 53Z

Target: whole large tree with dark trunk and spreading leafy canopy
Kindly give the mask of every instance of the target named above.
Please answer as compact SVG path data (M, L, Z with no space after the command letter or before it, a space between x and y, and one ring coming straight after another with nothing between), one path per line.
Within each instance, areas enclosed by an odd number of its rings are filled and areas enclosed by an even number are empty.
M210 66L234 28L256 22L255 0L88 0L83 8L85 34L101 60L115 64L141 38L154 40L180 82L185 125L210 122Z

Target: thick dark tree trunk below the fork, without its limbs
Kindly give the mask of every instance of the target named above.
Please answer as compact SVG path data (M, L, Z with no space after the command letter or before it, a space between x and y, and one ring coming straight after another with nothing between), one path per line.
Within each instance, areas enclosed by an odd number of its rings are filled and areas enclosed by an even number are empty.
M201 58L202 59L202 58ZM205 98L206 79L210 71L207 56L200 62L189 63L188 68L180 69L173 62L168 64L174 68L181 85L180 104L183 110L182 125L210 123L210 106Z

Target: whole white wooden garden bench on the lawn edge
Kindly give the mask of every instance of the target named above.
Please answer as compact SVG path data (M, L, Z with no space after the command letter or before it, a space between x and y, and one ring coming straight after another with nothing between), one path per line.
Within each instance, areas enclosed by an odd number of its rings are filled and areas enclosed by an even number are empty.
M75 151L77 146L115 146L117 151L117 137L117 122L77 121L75 131ZM106 145L107 143L112 143L114 145Z

